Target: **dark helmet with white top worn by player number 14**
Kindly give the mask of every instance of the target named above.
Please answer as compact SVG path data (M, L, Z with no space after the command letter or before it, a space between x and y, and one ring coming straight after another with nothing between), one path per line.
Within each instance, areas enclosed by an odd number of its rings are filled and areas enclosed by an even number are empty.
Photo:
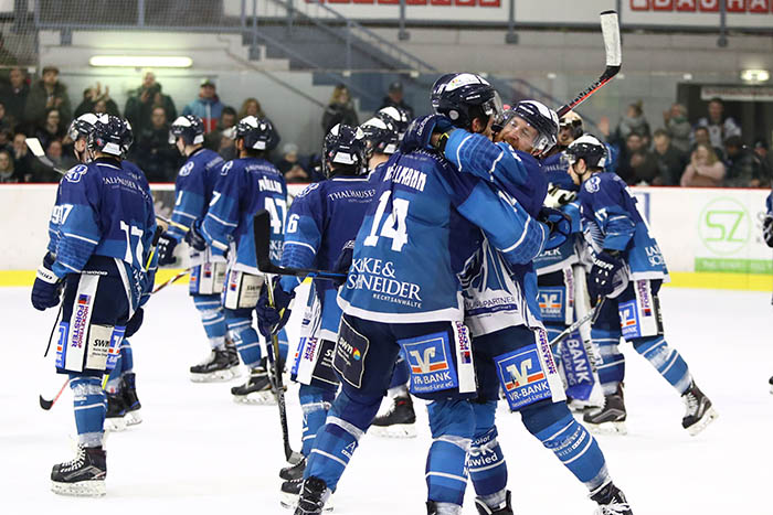
M501 101L494 87L473 73L443 75L432 86L430 98L436 115L444 115L459 128L468 128L475 118L497 116Z

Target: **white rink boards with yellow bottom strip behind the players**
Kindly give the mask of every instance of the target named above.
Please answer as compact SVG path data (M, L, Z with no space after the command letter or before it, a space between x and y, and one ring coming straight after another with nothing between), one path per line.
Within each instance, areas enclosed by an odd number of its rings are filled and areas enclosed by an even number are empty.
M153 184L156 211L169 216L172 184ZM304 189L288 186L290 195ZM771 291L773 251L762 240L767 190L633 187L671 272L671 286ZM0 286L29 286L47 243L55 184L0 186ZM184 258L182 246L178 247ZM656 257L653 257L656 259ZM181 267L187 264L181 261ZM179 270L165 269L161 282Z

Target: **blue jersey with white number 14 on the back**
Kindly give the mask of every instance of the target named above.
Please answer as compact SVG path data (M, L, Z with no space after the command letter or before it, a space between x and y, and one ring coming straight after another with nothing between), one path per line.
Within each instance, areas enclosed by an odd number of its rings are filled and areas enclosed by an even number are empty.
M510 264L541 250L544 227L525 230L531 222L518 202L438 153L395 153L385 167L338 297L343 312L384 323L462 321L458 273L478 227Z

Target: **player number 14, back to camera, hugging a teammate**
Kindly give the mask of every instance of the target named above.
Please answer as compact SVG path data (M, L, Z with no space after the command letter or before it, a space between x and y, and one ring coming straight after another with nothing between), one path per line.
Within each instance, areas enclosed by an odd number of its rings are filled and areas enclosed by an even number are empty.
M457 127L488 132L494 92L474 74L441 77L433 95L453 93ZM487 182L458 173L437 151L399 152L386 163L358 233L338 301L333 352L341 390L317 433L296 515L321 512L390 384L400 348L413 356L412 391L427 405L433 443L426 460L430 514L457 514L467 483L465 455L477 396L457 273L469 256L456 245L483 228L512 264L530 262L546 229ZM485 206L485 207L483 207ZM540 225L540 224L538 224ZM465 351L467 350L467 351Z

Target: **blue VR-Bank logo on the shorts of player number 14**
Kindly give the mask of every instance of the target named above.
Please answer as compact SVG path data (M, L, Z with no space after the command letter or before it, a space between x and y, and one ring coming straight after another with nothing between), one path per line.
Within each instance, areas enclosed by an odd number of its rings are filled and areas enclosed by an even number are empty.
M458 386L447 333L399 340L411 369L411 391L428 394Z

